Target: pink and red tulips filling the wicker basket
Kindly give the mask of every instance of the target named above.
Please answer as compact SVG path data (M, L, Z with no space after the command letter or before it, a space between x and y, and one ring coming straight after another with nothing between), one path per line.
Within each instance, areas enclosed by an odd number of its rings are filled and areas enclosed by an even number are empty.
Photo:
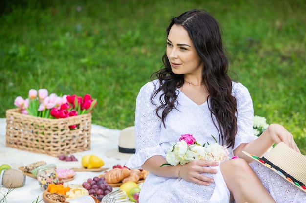
M60 97L55 93L48 95L46 89L31 89L28 98L18 96L14 105L22 109L23 114L43 118L67 118L91 112L97 105L97 100L92 99L89 94L84 97L75 94Z

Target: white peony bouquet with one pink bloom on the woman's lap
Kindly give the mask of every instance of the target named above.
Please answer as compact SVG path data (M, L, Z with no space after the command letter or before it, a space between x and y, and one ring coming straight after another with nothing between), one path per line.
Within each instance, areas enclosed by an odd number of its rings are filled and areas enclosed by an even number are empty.
M213 137L214 138L214 137ZM214 138L215 139L215 138ZM166 154L167 163L161 166L176 166L187 164L192 160L225 161L229 160L229 152L225 146L217 143L207 146L197 143L192 134L181 135L177 143L171 143L172 148ZM234 157L237 158L237 157Z

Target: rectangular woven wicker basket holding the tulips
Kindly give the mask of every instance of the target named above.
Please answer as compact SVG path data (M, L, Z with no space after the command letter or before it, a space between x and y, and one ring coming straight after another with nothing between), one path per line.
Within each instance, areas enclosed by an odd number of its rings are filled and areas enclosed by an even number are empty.
M70 129L69 126L78 128ZM90 149L91 113L49 119L6 111L6 146L58 156Z

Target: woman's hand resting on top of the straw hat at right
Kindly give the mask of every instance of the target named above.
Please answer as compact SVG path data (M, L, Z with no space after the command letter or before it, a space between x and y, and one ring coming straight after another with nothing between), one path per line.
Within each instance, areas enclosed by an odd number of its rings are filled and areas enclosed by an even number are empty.
M298 146L294 142L293 135L288 132L287 129L285 129L282 125L279 124L270 124L267 130L270 133L270 138L275 143L284 142L287 146L290 148L293 148L297 152L300 152Z

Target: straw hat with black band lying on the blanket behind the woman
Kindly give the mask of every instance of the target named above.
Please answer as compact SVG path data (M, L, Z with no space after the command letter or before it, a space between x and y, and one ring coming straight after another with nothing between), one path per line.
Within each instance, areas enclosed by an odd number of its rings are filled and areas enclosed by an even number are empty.
M118 148L105 152L108 157L129 159L135 153L135 127L122 129L119 135Z

